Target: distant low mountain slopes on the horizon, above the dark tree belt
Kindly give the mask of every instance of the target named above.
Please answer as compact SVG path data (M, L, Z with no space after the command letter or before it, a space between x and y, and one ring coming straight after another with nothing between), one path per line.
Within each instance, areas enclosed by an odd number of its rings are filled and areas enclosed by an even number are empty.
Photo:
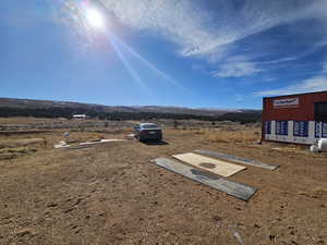
M161 106L104 106L94 103L81 103L70 101L53 101L53 100L35 100L35 99L14 99L14 98L0 98L0 108L16 108L16 109L50 109L50 108L65 108L76 110L92 110L98 113L105 112L150 112L150 113L169 113L169 114L190 114L190 115L204 115L204 117L221 117L223 114L239 114L242 113L261 113L261 110L226 110L226 109L192 109L185 107L161 107Z

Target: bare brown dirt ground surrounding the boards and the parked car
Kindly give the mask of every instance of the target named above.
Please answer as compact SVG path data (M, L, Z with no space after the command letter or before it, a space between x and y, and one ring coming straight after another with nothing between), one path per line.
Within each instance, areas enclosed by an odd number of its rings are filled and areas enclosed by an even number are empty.
M72 137L131 133L104 132ZM129 139L84 149L53 149L62 131L28 135L45 143L0 160L0 244L327 244L326 155L207 134L166 130L161 144ZM149 162L198 148L280 168L247 167L229 177L258 188L246 203Z

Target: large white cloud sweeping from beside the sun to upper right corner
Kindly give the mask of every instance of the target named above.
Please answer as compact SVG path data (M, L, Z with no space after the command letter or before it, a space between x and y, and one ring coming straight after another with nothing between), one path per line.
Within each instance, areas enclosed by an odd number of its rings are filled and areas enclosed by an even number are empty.
M326 17L326 0L216 0L208 12L191 0L99 0L124 25L157 32L182 56L210 56L246 36L306 17ZM223 47L225 46L225 47ZM220 50L220 52L222 52Z

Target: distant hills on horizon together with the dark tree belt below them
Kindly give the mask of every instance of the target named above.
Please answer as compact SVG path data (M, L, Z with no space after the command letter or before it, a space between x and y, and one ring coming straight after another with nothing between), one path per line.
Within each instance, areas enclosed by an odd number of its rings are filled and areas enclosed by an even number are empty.
M225 120L228 115L235 117L238 119L253 118L254 121L261 115L261 110L223 110L223 109L193 109L184 107L161 107L161 106L104 106L95 103L81 103L71 101L53 101L53 100L34 100L34 99L15 99L15 98L0 98L0 117L12 117L12 115L31 115L38 117L41 112L45 117L53 113L53 118L69 117L74 113L86 113L90 117L105 117L108 118L113 113L123 115L125 118L133 118L136 114L144 117L155 117L156 114L160 118L194 118L203 120ZM35 113L37 115L35 115ZM61 115L62 114L62 115ZM170 117L169 117L170 115ZM110 118L110 117L109 117ZM138 117L140 118L140 117Z

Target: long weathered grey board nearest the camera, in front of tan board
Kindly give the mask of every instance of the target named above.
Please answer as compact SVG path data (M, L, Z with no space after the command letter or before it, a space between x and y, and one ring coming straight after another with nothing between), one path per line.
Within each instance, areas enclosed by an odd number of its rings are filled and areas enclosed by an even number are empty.
M241 200L249 200L257 191L257 188L250 185L229 181L216 174L207 173L167 158L156 158L152 162L187 179L227 193L228 195L234 196Z

